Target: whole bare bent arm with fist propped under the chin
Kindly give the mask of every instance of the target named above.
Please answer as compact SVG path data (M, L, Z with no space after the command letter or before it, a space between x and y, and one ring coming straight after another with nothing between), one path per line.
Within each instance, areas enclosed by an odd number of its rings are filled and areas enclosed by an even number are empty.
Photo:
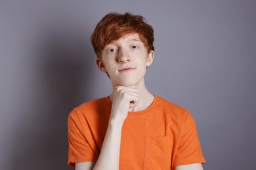
M121 129L130 107L135 107L139 101L139 93L133 87L117 86L108 129L96 163L75 163L76 170L87 169L119 169L119 152L121 144Z

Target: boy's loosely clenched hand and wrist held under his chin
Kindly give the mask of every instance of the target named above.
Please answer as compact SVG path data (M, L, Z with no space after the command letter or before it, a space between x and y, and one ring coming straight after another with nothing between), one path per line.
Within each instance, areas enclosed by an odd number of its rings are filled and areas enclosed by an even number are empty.
M129 108L135 107L139 101L139 92L135 86L117 86L114 90L111 119L124 121Z

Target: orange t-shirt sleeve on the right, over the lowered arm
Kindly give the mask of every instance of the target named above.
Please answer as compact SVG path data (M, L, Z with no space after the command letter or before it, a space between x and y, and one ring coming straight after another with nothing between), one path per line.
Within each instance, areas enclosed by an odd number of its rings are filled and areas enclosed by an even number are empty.
M200 146L196 122L187 110L181 129L181 140L175 156L174 166L191 163L205 163Z

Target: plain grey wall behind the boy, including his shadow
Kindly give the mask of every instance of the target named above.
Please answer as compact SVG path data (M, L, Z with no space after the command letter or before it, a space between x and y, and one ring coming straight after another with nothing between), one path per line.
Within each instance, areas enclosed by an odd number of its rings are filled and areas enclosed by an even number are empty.
M146 84L186 107L204 169L255 169L256 1L1 1L0 169L72 169L67 116L111 92L89 38L106 13L155 29Z

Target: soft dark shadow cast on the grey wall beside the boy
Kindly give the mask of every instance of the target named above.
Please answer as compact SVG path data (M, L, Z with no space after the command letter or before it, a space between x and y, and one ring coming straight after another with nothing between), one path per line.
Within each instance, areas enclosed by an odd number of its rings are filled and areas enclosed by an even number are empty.
M31 103L15 125L11 169L72 169L67 165L67 118L74 107L89 100L89 73L95 69L89 37L73 34L51 33L35 44L33 89L27 96Z

